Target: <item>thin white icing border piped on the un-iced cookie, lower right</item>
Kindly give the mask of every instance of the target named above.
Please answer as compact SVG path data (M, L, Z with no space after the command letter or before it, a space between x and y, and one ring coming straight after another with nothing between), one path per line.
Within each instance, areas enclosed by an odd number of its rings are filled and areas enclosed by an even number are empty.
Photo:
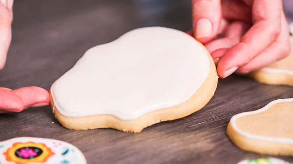
M257 139L257 140L263 140L263 141L269 141L269 142L278 142L278 143L287 143L287 144L293 144L293 139L291 138L286 138L286 137L268 137L268 136L261 136L261 135L255 135L255 134L251 134L248 133L246 131L241 130L237 124L236 124L236 120L240 117L243 116L247 116L247 115L251 115L251 114L256 114L256 113L261 113L269 108L271 108L274 104L277 103L282 103L282 102L293 102L293 98L288 98L288 99L279 99L279 100L274 100L271 103L269 103L268 105L266 105L265 107L263 107L262 109L258 109L255 111L248 111L248 112L243 112L243 113L239 113L234 115L231 120L231 126L234 128L234 130L247 137L247 138L251 138L251 139Z

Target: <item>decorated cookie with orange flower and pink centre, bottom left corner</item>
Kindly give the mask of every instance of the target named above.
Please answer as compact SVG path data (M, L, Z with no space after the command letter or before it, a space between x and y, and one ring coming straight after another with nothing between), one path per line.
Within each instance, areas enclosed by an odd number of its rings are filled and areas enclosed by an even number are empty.
M83 153L63 141L20 137L0 142L0 164L86 164Z

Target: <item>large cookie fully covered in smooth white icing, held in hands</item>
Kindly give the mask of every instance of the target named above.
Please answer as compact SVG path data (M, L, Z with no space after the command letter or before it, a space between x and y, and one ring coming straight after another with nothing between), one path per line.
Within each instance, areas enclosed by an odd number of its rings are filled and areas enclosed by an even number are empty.
M202 109L218 76L205 47L184 32L146 27L89 49L50 89L69 129L140 132Z

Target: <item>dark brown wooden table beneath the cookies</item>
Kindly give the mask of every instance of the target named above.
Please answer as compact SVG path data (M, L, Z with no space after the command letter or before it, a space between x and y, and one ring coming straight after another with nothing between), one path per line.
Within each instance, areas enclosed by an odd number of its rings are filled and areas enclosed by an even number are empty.
M16 0L13 39L0 86L50 85L98 44L129 30L164 26L188 31L190 0ZM293 88L232 75L219 80L209 104L194 114L141 133L114 129L74 131L49 106L0 115L0 141L32 136L63 140L81 149L88 164L236 164L272 157L245 152L226 135L231 116L292 98ZM277 157L293 162L292 157Z

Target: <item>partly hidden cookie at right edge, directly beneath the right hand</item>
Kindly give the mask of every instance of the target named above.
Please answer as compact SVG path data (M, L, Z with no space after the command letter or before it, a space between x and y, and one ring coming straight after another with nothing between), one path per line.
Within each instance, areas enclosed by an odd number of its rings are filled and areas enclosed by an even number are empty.
M285 59L279 60L250 75L256 81L270 85L293 86L293 36L290 37L291 54Z

